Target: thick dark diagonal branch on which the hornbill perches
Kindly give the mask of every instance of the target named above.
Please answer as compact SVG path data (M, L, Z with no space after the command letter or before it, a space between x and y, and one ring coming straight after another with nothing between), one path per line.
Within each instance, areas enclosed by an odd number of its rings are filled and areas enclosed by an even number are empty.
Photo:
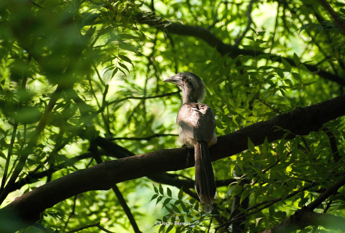
M304 108L278 115L218 137L218 142L210 148L215 161L247 149L248 137L259 145L265 138L269 142L294 138L296 134L307 135L337 117L345 115L345 94ZM277 126L287 129L277 130ZM104 141L102 141L105 143ZM118 153L118 150L114 153ZM123 152L121 152L123 153ZM114 155L120 156L120 155ZM106 161L81 169L48 182L16 198L0 210L0 232L14 232L39 219L39 214L58 202L90 190L108 190L115 183L136 179L151 174L177 171L194 166L193 153L188 148L164 149ZM6 227L11 226L10 228Z

